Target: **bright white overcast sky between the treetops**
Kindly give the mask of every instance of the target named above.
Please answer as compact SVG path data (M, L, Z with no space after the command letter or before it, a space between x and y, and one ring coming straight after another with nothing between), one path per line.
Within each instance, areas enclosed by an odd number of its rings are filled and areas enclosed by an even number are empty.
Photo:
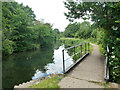
M15 0L18 3L28 5L34 11L37 20L43 20L44 23L53 24L53 29L57 28L59 31L64 31L70 23L64 12L67 9L64 7L63 1L66 0ZM82 19L77 22L83 22Z

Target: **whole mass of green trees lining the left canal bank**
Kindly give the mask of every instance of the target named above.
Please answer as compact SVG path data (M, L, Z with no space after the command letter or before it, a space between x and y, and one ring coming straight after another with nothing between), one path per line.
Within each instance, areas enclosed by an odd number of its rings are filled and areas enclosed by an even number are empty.
M35 20L28 6L17 2L2 3L3 55L51 45L54 35L52 26Z

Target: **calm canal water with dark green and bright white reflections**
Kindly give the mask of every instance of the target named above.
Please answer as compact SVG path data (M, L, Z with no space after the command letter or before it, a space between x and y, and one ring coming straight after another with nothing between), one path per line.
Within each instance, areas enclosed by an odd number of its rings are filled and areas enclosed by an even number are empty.
M34 51L21 52L2 59L2 86L13 88L14 85L22 84L33 79L38 79L53 73L63 72L62 50L65 45L41 48ZM65 59L70 57L65 50ZM73 64L70 57L65 63L67 68Z

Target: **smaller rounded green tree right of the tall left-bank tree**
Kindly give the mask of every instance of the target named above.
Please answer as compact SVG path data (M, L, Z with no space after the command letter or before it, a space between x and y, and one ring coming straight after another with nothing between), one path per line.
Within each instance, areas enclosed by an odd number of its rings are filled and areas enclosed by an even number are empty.
M42 47L52 45L54 41L54 32L50 24L42 24L37 21L37 24L34 26L35 29L35 38L34 41L39 43Z

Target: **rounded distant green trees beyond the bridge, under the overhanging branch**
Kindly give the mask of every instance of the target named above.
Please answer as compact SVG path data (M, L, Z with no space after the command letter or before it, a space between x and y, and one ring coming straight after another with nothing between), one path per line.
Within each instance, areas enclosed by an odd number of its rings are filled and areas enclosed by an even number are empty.
M91 37L91 25L89 22L82 22L82 23L73 23L69 24L65 31L65 37L75 37L75 38L90 38Z

